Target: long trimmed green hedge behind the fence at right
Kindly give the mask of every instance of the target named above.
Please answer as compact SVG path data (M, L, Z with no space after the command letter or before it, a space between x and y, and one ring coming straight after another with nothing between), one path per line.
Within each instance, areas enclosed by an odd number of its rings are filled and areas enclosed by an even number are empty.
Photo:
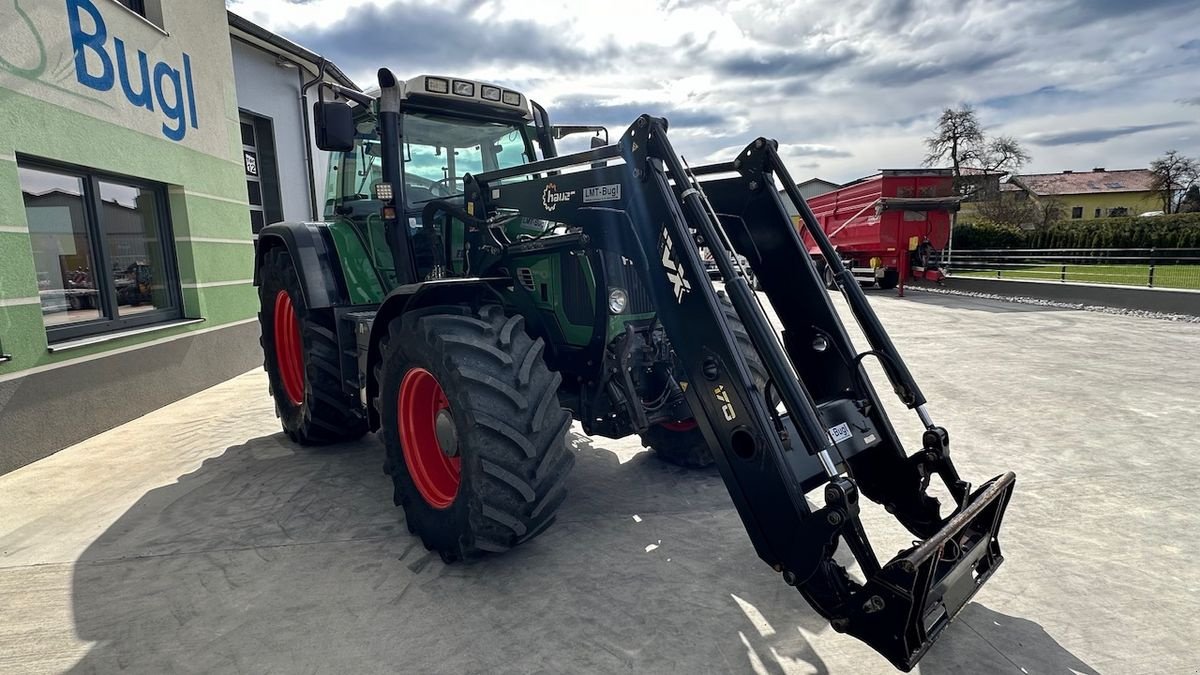
M1021 229L990 221L956 225L955 249L1200 249L1200 214L1110 217Z

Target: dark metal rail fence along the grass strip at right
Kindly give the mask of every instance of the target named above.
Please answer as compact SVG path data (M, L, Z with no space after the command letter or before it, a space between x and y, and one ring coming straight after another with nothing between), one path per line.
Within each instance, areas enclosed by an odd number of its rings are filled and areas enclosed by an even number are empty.
M950 276L1200 289L1200 249L977 249L947 251Z

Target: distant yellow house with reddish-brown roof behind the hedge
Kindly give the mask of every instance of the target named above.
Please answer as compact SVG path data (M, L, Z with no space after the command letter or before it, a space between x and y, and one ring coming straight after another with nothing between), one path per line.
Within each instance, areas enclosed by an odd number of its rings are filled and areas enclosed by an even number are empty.
M1043 210L1051 204L1056 207L1057 220L1062 221L1136 216L1162 210L1163 198L1152 189L1152 181L1150 169L1108 171L1103 167L1090 172L1027 173L1008 179Z

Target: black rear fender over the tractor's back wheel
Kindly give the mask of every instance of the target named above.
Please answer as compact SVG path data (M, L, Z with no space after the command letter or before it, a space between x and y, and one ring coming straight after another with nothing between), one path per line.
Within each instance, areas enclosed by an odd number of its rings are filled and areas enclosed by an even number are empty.
M300 292L308 309L344 304L346 282L334 245L322 222L276 222L258 233L254 247L254 286L262 283L263 258L275 246L286 246L296 265Z

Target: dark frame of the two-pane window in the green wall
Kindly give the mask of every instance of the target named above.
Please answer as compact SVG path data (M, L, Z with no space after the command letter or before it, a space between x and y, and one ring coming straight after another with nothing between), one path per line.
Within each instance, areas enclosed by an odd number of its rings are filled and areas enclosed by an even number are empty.
M184 316L184 293L180 285L179 257L175 251L174 228L170 222L170 209L167 202L167 186L144 178L110 173L91 167L59 162L17 154L17 166L32 171L65 174L78 178L83 184L83 216L84 226L88 229L90 253L94 265L106 270L104 274L95 275L98 291L97 309L101 318L66 323L62 325L44 325L46 341L55 345L66 340L78 338L91 338L106 333L119 333L131 328L140 328L156 323L166 323L179 319ZM120 316L116 286L112 280L112 263L109 262L108 246L104 239L104 225L101 222L103 203L100 195L101 183L116 183L152 192L155 196L155 217L158 226L158 240L162 243L163 286L170 305L167 307L155 307L144 310L133 316ZM25 209L24 197L22 197L22 209ZM30 233L32 234L32 233Z

